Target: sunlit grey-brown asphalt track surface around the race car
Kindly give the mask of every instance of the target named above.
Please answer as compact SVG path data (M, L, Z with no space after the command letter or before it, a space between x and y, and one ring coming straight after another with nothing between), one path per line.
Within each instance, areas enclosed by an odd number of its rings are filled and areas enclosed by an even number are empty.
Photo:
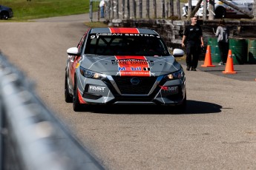
M105 169L256 169L255 65L235 65L235 75L203 62L186 71L184 114L157 106L73 112L64 100L66 50L88 29L85 16L0 23L0 50Z

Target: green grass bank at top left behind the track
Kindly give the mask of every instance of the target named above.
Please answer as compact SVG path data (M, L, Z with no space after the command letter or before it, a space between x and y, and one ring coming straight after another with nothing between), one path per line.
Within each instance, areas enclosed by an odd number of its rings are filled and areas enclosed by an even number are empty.
M89 4L90 0L1 0L1 5L13 9L14 17L8 21L89 13ZM99 1L93 1L93 11L98 4Z

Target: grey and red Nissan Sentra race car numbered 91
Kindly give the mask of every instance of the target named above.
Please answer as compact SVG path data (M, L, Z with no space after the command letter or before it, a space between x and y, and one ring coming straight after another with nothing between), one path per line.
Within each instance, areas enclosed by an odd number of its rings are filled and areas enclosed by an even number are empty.
M65 101L73 110L92 104L166 105L186 109L186 75L160 35L131 27L91 28L67 50Z

